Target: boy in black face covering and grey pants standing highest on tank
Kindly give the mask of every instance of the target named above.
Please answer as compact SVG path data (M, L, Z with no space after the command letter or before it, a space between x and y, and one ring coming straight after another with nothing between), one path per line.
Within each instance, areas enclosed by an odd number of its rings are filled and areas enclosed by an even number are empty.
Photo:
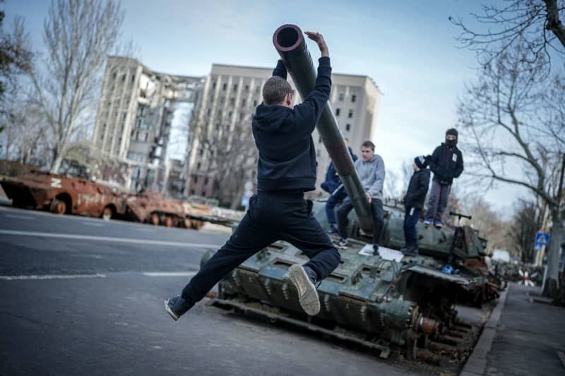
M447 199L451 191L453 178L458 178L463 172L463 154L457 148L458 133L455 128L446 131L446 142L436 147L434 154L427 157L429 169L434 173L432 190L429 193L428 209L424 224L434 222L441 229L441 218L447 207Z

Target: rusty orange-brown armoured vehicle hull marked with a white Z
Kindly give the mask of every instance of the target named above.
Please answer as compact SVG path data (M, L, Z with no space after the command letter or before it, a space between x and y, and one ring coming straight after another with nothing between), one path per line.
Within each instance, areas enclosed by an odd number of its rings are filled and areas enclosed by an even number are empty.
M125 213L123 195L82 178L32 171L0 184L14 207L106 219L121 217Z

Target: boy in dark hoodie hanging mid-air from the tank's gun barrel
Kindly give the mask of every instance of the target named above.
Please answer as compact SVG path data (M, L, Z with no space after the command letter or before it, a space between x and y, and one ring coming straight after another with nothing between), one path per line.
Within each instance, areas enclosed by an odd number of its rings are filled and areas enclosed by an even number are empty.
M279 239L295 245L310 258L304 265L292 265L288 274L302 309L308 315L320 311L316 281L338 267L340 254L311 215L312 202L304 200L304 192L315 189L316 150L311 133L328 102L331 66L322 35L306 34L318 44L322 56L316 86L304 102L292 107L292 87L287 83L282 61L263 85L263 103L257 107L251 124L259 150L257 194L249 200L249 209L225 245L201 267L181 296L165 301L165 310L174 320L235 267Z

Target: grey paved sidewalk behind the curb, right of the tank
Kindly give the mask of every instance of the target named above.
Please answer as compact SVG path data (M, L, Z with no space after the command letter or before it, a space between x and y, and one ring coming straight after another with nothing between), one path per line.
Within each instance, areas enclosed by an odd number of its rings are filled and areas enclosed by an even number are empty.
M509 286L461 376L565 375L565 308L539 303L540 295L539 287Z

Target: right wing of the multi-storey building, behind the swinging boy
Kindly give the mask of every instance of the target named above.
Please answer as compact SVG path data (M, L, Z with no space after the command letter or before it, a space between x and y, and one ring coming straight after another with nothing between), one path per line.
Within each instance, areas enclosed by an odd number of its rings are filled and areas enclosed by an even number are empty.
M213 64L191 118L189 159L186 164L186 176L189 176L189 179L186 193L206 197L217 194L215 180L221 180L222 176L210 170L215 170L213 169L214 154L217 155L218 151L210 147L210 142L203 142L203 134L209 135L210 131L222 128L234 133L246 132L251 139L251 117L256 106L262 102L263 83L271 77L272 73L272 68ZM292 80L290 83L294 88ZM374 81L364 75L335 73L332 75L332 83L330 102L335 118L343 136L350 140L350 146L358 152L362 142L371 138L376 126L381 92ZM299 96L295 95L295 101L299 100ZM244 126L241 125L242 121L246 122ZM316 186L319 188L330 159L317 131L314 131L313 138L318 159ZM249 147L254 147L254 144L251 142ZM249 169L249 174L241 179L241 187L246 181L256 183L256 166L253 164L255 160L250 162L249 165L252 167ZM224 174L231 172L224 171Z

